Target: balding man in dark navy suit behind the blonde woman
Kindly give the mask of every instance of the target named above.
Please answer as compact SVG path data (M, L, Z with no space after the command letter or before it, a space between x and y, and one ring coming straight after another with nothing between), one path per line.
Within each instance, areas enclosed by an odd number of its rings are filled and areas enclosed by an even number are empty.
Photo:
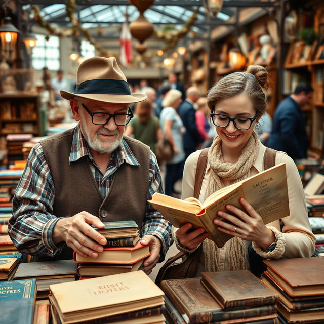
M196 110L193 107L193 104L198 99L198 89L195 87L188 88L186 91L186 99L181 103L177 111L182 119L183 126L186 128L186 132L183 135L183 147L186 153L185 160L197 149L198 144L203 141L197 129Z

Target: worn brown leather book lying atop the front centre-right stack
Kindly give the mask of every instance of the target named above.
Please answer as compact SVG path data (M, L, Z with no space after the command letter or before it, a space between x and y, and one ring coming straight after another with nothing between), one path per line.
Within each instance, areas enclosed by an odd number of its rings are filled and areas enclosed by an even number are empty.
M201 283L224 310L275 304L273 293L248 270L201 272Z

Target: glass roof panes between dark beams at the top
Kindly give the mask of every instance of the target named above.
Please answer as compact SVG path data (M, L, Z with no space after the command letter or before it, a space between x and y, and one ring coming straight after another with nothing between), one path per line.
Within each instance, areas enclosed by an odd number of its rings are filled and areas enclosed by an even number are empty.
M33 5L37 5L37 0L32 1L32 3ZM51 4L47 6L44 5L44 1L42 1L41 3L42 5L38 6L42 8L42 15L45 20L62 27L69 26L69 21L66 16L64 4ZM114 3L118 3L118 1L114 1ZM122 3L125 4L125 1ZM208 25L205 24L206 15L204 13L203 6L201 6L201 1L197 0L197 5L199 6L199 12L192 30L197 33L204 33L208 30ZM166 6L163 5L163 0L156 0L155 5L147 9L144 15L151 23L155 25L160 24L160 28L163 28L163 25L170 24L179 29L192 16L192 13L196 9L196 7L197 6ZM79 5L77 6L77 8L79 10L79 20L82 23L82 27L87 29L99 26L105 27L120 25L125 21L126 13L129 16L129 22L132 22L139 16L137 8L131 5L127 6L97 4L87 6ZM30 12L30 5L24 5L23 9L27 12ZM213 21L225 22L230 19L234 12L234 8L225 7L221 12L217 14L217 17L213 19Z

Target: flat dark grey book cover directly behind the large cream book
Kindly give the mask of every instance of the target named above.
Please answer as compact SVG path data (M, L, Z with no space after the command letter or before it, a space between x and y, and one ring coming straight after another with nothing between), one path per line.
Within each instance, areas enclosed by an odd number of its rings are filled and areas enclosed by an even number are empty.
M77 264L73 260L43 261L21 263L15 279L55 277L60 275L76 276Z

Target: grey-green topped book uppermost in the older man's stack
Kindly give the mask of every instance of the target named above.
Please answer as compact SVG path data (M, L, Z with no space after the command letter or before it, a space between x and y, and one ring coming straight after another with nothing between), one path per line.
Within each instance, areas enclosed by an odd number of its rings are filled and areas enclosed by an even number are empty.
M134 221L104 222L104 228L93 226L106 238L135 237L138 235L138 225Z

